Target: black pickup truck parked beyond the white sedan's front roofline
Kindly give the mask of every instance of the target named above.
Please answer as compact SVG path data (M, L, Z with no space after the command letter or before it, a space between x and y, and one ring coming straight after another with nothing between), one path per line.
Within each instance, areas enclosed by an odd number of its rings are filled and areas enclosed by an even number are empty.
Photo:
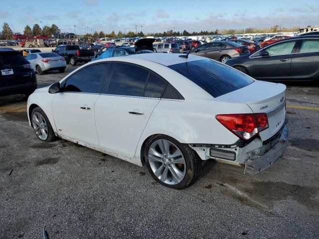
M89 62L94 59L94 50L81 50L76 45L59 45L52 52L64 57L67 64L75 66L78 62Z

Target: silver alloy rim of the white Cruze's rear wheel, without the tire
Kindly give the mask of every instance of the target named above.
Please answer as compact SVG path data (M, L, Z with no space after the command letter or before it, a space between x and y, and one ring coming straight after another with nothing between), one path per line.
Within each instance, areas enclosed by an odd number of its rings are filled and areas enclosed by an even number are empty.
M149 149L149 163L154 175L163 183L180 183L186 173L186 162L181 150L171 141L158 139Z

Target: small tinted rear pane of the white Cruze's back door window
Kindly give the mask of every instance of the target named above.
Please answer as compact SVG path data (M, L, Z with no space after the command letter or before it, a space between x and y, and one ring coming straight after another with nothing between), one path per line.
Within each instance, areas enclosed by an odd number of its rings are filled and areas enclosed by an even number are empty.
M145 97L160 98L167 83L155 74L151 74L146 85Z

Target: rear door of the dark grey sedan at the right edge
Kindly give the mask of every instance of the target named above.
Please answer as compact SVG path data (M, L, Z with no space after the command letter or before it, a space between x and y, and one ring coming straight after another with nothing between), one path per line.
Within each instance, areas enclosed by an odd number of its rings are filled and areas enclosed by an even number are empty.
M291 62L292 80L315 80L319 76L319 39L298 41Z

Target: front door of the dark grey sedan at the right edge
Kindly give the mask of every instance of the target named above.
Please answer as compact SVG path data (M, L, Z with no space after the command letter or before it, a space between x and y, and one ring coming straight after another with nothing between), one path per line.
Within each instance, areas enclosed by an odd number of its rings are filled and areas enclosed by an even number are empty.
M261 56L261 51L253 54L252 77L259 80L290 80L291 62L297 40L285 41L264 48L269 56Z

